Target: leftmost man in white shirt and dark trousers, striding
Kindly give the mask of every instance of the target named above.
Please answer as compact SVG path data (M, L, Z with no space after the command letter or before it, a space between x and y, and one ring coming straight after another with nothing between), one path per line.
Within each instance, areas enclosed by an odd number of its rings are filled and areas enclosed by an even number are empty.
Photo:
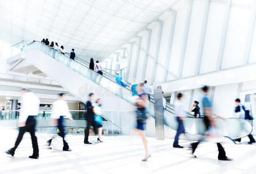
M29 132L31 135L32 146L33 146L33 155L29 158L38 159L39 150L37 144L37 137L35 136L35 117L38 115L40 100L33 92L30 92L28 89L22 89L22 99L21 99L21 109L20 116L18 121L19 126L19 135L15 142L15 146L6 151L9 155L14 155L16 148L19 146L22 141L22 137L25 132Z

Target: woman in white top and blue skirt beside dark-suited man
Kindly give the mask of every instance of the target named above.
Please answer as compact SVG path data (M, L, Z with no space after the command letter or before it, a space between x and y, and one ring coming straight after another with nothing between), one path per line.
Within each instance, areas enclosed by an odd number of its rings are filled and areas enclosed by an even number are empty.
M98 139L97 142L102 142L101 140L101 135L102 135L102 129L103 129L103 125L102 125L102 102L101 99L97 99L97 101L93 104L94 108L94 121L95 121L95 125L98 129Z

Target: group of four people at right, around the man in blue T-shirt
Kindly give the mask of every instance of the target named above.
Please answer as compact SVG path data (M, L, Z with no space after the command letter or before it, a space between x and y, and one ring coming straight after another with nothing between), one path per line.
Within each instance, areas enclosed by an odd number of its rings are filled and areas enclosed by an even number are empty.
M207 132L210 132L211 129L214 129L216 127L216 122L214 121L214 117L220 118L220 119L224 119L216 114L214 114L213 109L212 109L212 102L210 100L210 96L209 96L209 87L208 86L204 86L202 88L203 92L204 92L204 97L202 98L202 108L204 111L204 125L205 125L205 135L207 134ZM178 124L178 128L177 128L177 132L176 132L176 136L175 136L175 140L173 142L173 147L175 148L183 148L183 146L179 145L179 136L182 133L186 133L185 132L185 128L184 128L184 124L183 124L183 119L184 119L184 104L182 102L183 99L183 94L182 93L178 93L177 94L177 102L175 103L175 115L176 115L176 119L177 119L177 124ZM240 99L236 99L236 108L234 110L234 112L238 115L239 118L242 119L253 119L251 118L248 110L246 110L246 108L240 103ZM194 117L198 118L200 117L200 108L198 106L197 101L194 101L193 104L193 109L191 111L194 112ZM255 139L253 137L253 135L248 135L250 142L248 142L249 144L255 143ZM195 143L191 143L191 150L192 150L192 154L194 157L196 157L194 155L195 150L197 149L198 144L200 144L203 140L205 140L206 136L202 136L200 140L198 140L198 142ZM241 142L241 139L236 139L235 141ZM219 150L219 155L218 155L218 159L219 160L224 160L224 161L231 161L231 158L228 158L226 156L226 152L224 150L224 148L222 147L221 143L216 143L218 150Z

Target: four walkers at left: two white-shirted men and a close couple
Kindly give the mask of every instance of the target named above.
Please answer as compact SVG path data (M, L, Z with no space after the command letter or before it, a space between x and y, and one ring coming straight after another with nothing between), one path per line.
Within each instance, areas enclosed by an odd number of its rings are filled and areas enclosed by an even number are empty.
M40 100L38 97L31 92L29 89L22 89L22 107L20 108L20 115L18 119L18 127L19 127L19 135L17 136L15 146L6 151L6 154L15 155L16 148L19 146L22 141L23 135L26 132L29 132L31 135L32 146L33 146L33 154L29 156L29 158L38 159L39 158L39 149L37 143L37 137L35 136L35 125L37 117L39 113ZM87 128L84 131L84 143L91 144L88 142L89 129L92 125L94 127L94 132L98 130L98 142L102 142L101 134L102 134L102 109L101 109L101 99L97 99L96 102L93 102L94 94L90 93L89 100L87 102ZM69 112L69 107L66 102L66 94L59 93L59 100L56 100L52 104L52 114L51 114L51 125L56 126L58 128L58 135L62 137L63 140L63 151L72 151L69 148L69 144L65 140L65 125L64 119L68 118L71 122L73 122L72 115ZM52 140L55 139L53 136L51 139L47 141L49 149L51 149Z

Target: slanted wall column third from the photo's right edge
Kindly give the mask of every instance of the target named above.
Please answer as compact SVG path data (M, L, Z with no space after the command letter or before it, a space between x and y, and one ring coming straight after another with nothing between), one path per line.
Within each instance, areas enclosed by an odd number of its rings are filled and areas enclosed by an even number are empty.
M207 24L208 24L209 9L210 9L210 1L207 0L207 1L205 1L204 19L202 22L202 32L201 32L201 37L200 37L200 45L198 48L197 64L195 65L195 75L200 74L202 52L204 50L205 34L206 34L206 28L207 28Z

